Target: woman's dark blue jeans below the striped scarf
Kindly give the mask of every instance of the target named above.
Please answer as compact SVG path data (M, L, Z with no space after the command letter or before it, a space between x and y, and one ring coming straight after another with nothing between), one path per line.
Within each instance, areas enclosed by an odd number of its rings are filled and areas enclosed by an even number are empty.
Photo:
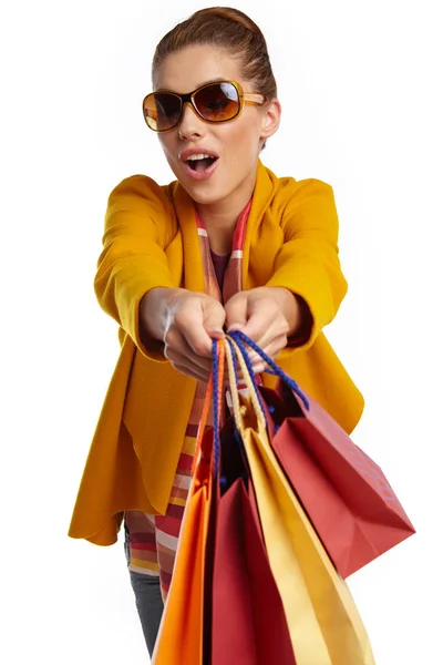
M130 540L125 529L125 554L130 565ZM150 655L153 655L155 641L157 638L159 623L163 614L163 598L159 591L159 577L134 573L130 571L131 584L135 595L140 621Z

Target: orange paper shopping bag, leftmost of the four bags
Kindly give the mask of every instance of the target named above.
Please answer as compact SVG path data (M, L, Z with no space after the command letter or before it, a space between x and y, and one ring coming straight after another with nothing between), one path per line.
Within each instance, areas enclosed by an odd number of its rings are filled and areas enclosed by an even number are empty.
M152 657L153 665L203 665L205 574L213 494L213 431L204 430L210 383L197 439L194 470L173 577Z

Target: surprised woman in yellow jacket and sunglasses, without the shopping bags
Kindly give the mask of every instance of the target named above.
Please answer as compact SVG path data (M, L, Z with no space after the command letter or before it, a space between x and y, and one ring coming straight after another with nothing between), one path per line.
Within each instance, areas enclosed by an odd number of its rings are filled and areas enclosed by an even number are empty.
M363 408L322 332L347 291L332 190L279 178L259 160L281 113L260 30L234 9L197 11L157 45L153 85L144 115L176 181L133 176L110 196L95 291L120 325L122 351L70 529L112 544L124 518L150 653L212 338L241 328L348 432Z

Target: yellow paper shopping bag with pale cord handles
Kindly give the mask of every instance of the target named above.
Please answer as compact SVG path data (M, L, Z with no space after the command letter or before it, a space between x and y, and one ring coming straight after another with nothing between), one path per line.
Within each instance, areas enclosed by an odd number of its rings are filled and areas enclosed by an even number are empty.
M282 600L297 665L373 665L362 621L271 449L257 386L233 340L249 390L241 413L226 342L237 430L245 446L266 550ZM244 406L245 409L245 406Z

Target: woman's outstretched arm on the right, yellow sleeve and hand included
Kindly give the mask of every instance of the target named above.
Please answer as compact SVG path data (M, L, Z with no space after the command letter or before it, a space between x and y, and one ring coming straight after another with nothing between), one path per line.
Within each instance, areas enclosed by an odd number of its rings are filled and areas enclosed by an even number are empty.
M348 284L338 249L339 222L330 185L307 180L282 212L285 242L266 286L226 305L227 325L244 330L268 355L309 348L336 316Z

